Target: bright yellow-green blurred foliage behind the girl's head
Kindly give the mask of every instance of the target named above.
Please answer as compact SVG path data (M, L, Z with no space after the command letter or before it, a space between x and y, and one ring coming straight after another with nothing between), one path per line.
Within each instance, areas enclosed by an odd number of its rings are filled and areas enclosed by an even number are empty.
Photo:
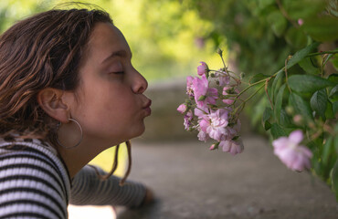
M64 7L65 0L2 0L0 31L16 20ZM212 40L201 33L212 29L212 22L201 19L193 9L174 1L82 0L98 5L111 14L132 48L132 62L148 81L181 78L192 74L198 62L217 62ZM67 7L76 6L76 4ZM84 6L84 5L79 5ZM225 44L223 44L225 47ZM227 53L227 50L226 50ZM226 54L227 56L227 54Z

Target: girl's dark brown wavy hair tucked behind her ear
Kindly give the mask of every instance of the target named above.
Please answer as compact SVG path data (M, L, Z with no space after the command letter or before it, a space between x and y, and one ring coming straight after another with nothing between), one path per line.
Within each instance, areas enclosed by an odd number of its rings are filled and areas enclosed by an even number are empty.
M0 137L49 139L56 121L37 103L41 89L74 90L90 33L112 24L99 9L49 10L11 26L0 36Z

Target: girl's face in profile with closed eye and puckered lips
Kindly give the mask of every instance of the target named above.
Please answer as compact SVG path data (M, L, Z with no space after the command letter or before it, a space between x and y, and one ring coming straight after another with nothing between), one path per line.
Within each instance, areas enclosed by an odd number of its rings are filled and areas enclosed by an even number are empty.
M79 68L71 117L79 121L87 140L117 144L139 136L151 100L143 92L147 81L132 67L132 53L121 31L98 23Z

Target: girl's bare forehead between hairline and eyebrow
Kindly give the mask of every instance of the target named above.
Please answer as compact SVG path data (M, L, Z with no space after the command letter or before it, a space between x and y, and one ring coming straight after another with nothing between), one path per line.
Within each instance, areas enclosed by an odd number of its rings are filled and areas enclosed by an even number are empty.
M87 57L98 61L116 51L130 53L130 47L121 31L110 23L97 23L87 45Z

